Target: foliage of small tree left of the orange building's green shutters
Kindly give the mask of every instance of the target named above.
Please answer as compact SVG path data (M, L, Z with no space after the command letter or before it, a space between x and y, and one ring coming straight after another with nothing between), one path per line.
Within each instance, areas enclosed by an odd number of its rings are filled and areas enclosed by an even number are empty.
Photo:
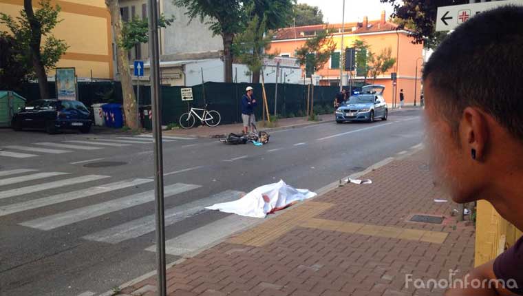
M300 65L306 65L308 74L314 74L329 61L334 49L336 43L332 40L332 35L329 35L327 30L321 30L296 50L296 57Z

